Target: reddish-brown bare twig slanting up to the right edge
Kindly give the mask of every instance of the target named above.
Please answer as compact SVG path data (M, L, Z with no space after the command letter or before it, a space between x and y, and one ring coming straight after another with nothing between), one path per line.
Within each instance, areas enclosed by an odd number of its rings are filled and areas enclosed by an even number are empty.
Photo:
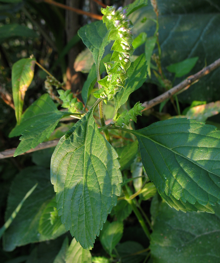
M197 81L198 79L209 74L211 71L215 70L219 66L220 66L220 58L217 59L212 64L210 64L209 66L203 68L202 70L200 70L196 74L189 76L187 79L183 80L181 83L179 83L178 85L176 85L172 89L164 92L160 96L158 96L158 97L156 97L150 101L145 101L144 103L142 103L142 106L145 107L144 110L148 110L148 109L154 107L155 105L161 103L162 101L165 101L166 99L171 98L171 96L173 96L176 93L183 92L184 90L188 89L195 81Z

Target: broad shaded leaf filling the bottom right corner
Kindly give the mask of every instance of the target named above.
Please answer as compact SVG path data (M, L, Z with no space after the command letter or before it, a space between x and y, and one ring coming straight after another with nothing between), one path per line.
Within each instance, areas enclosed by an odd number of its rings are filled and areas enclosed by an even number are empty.
M151 235L154 263L216 263L220 257L220 206L215 214L176 211L162 203Z

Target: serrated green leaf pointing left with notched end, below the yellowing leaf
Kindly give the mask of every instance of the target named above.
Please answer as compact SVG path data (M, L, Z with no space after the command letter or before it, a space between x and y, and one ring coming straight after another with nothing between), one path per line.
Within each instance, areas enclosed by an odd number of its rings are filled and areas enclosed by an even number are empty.
M49 94L42 95L27 108L22 115L20 125L16 125L9 134L10 137L23 134L14 156L35 148L39 143L49 138L59 120L68 115L71 113L57 110Z

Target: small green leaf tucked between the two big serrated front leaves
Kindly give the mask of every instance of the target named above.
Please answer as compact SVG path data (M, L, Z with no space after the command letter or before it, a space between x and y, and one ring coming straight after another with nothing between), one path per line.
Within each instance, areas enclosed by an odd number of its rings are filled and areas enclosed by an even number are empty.
M138 153L138 142L128 143L126 146L116 149L121 165L121 171L127 169L132 164Z

